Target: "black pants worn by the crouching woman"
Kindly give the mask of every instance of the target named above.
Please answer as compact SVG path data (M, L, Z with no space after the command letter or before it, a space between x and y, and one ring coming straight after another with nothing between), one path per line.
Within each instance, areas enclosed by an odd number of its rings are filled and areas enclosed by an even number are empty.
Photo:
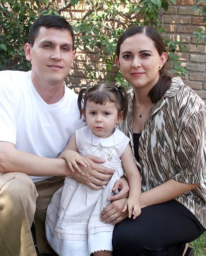
M115 256L182 256L185 244L205 229L181 203L171 200L142 209L139 217L126 218L113 231Z

